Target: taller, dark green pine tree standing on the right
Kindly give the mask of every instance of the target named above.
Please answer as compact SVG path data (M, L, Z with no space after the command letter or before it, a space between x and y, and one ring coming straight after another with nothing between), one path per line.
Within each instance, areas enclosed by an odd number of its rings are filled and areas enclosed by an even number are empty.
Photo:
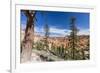
M76 18L71 17L70 21L71 21L71 23L70 23L71 32L70 32L69 40L70 40L71 56L72 56L72 59L75 59L75 50L76 50L76 47L77 47L77 32L78 32L78 29L75 25Z

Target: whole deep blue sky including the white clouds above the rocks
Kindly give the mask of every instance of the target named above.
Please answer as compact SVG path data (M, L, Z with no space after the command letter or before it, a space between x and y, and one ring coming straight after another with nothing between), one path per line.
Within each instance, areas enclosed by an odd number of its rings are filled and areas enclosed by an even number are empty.
M44 25L48 24L50 36L66 36L70 33L70 18L76 17L78 35L89 35L89 13L36 11L35 33L44 35ZM26 27L26 16L21 12L21 27Z

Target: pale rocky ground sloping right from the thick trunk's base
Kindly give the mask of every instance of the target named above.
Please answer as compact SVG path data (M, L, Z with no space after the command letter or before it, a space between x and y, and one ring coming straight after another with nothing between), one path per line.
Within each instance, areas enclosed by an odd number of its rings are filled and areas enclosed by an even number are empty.
M42 61L63 61L63 59L53 55L50 52L44 50L32 50L31 60L30 62L42 62Z

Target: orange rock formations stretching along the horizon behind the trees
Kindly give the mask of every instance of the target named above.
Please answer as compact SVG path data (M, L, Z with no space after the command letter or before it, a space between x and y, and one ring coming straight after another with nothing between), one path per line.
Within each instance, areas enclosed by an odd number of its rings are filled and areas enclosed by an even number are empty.
M22 36L21 36L21 40L23 40L23 36L24 36L24 31L22 31ZM34 34L34 43L43 40L43 36L40 36L38 34ZM68 48L70 46L69 44L69 39L67 37L49 37L48 38L49 41L49 48L51 48L51 46L55 46L55 47L59 47L59 46L64 46L64 48ZM79 47L84 48L86 47L87 44L89 44L89 36L88 35L80 35L78 36L78 42L77 44L79 45Z

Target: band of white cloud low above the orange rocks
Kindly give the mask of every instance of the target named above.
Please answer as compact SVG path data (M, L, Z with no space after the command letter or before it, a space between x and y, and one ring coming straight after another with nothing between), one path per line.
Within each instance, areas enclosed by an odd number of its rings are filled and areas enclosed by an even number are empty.
M25 29L26 27L24 24L22 24L21 26L23 29ZM44 36L43 27L42 28L35 27L34 30L35 30L35 34ZM70 30L50 27L49 33L51 37L64 37L70 34ZM79 29L77 35L89 35L89 29Z

